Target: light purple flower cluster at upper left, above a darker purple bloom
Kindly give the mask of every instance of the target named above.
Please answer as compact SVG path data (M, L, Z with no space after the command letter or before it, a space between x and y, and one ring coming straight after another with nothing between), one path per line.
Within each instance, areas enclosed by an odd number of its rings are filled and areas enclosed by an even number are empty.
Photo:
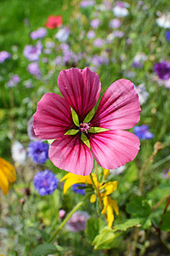
M42 53L42 44L40 41L36 45L26 45L24 55L28 61L39 61L39 55Z

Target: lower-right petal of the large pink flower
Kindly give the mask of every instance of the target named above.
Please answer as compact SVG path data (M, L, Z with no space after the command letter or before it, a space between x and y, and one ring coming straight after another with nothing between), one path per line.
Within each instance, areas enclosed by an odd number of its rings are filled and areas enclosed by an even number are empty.
M106 169L125 165L139 152L139 138L128 131L90 134L89 140L95 160Z

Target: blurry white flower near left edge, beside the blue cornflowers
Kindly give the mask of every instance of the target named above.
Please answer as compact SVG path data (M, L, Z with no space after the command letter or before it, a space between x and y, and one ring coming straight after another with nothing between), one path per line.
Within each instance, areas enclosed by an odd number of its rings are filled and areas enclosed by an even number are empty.
M26 149L19 141L15 141L11 147L12 158L20 165L24 165L26 162Z

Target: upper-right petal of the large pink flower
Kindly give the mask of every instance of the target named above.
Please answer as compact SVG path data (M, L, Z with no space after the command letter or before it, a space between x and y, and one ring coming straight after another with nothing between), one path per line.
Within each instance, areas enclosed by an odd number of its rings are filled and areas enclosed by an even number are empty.
M120 79L105 91L90 123L94 127L124 130L132 128L139 119L139 96L133 88L133 83L127 79Z

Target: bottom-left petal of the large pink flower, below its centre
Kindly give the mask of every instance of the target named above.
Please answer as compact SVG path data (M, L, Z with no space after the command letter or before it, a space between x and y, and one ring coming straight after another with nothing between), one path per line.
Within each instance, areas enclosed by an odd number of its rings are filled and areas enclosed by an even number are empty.
M54 166L77 175L89 175L94 166L90 149L79 136L65 135L49 147L49 159Z

